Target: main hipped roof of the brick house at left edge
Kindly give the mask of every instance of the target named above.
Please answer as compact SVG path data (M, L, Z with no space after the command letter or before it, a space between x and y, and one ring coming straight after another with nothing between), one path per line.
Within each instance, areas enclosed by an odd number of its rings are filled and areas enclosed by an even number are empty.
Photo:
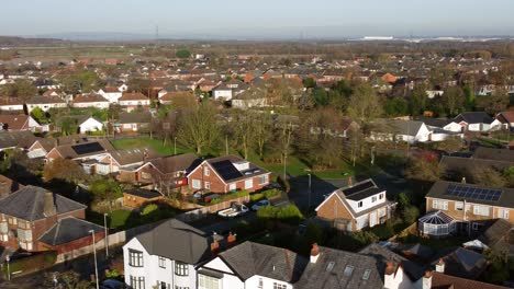
M65 198L42 187L29 185L1 199L0 212L26 221L45 219L44 203L46 193L53 195L57 215L87 208L87 206L82 204Z

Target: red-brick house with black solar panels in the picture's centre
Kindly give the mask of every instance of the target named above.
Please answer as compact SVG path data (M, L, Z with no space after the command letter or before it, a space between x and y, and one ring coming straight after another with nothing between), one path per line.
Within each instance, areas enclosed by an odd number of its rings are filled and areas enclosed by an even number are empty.
M188 175L189 188L212 193L255 192L269 184L271 173L236 155L204 160Z

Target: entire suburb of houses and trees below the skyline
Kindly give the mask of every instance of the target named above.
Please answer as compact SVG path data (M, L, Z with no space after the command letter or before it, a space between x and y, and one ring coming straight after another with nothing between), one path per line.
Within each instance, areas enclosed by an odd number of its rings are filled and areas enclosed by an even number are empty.
M514 287L512 39L0 47L0 288Z

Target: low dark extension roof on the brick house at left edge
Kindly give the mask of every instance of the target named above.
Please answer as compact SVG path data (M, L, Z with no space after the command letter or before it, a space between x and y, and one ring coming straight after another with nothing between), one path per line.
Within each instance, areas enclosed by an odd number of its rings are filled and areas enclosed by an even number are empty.
M68 217L58 220L38 241L52 246L58 246L91 235L90 230L98 233L103 232L104 228L86 220Z

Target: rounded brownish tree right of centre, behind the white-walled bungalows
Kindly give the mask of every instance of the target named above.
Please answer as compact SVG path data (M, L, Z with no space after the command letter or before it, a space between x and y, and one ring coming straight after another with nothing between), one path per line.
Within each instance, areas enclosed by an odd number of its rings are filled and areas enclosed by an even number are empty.
M355 88L349 100L348 114L362 126L382 115L382 106L373 88L366 83Z

